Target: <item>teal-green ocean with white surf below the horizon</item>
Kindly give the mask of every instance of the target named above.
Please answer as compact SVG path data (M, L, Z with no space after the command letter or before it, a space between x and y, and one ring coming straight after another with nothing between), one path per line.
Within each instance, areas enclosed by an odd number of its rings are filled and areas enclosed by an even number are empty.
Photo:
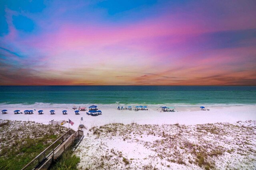
M256 104L256 86L0 86L1 108L90 104L250 105Z

